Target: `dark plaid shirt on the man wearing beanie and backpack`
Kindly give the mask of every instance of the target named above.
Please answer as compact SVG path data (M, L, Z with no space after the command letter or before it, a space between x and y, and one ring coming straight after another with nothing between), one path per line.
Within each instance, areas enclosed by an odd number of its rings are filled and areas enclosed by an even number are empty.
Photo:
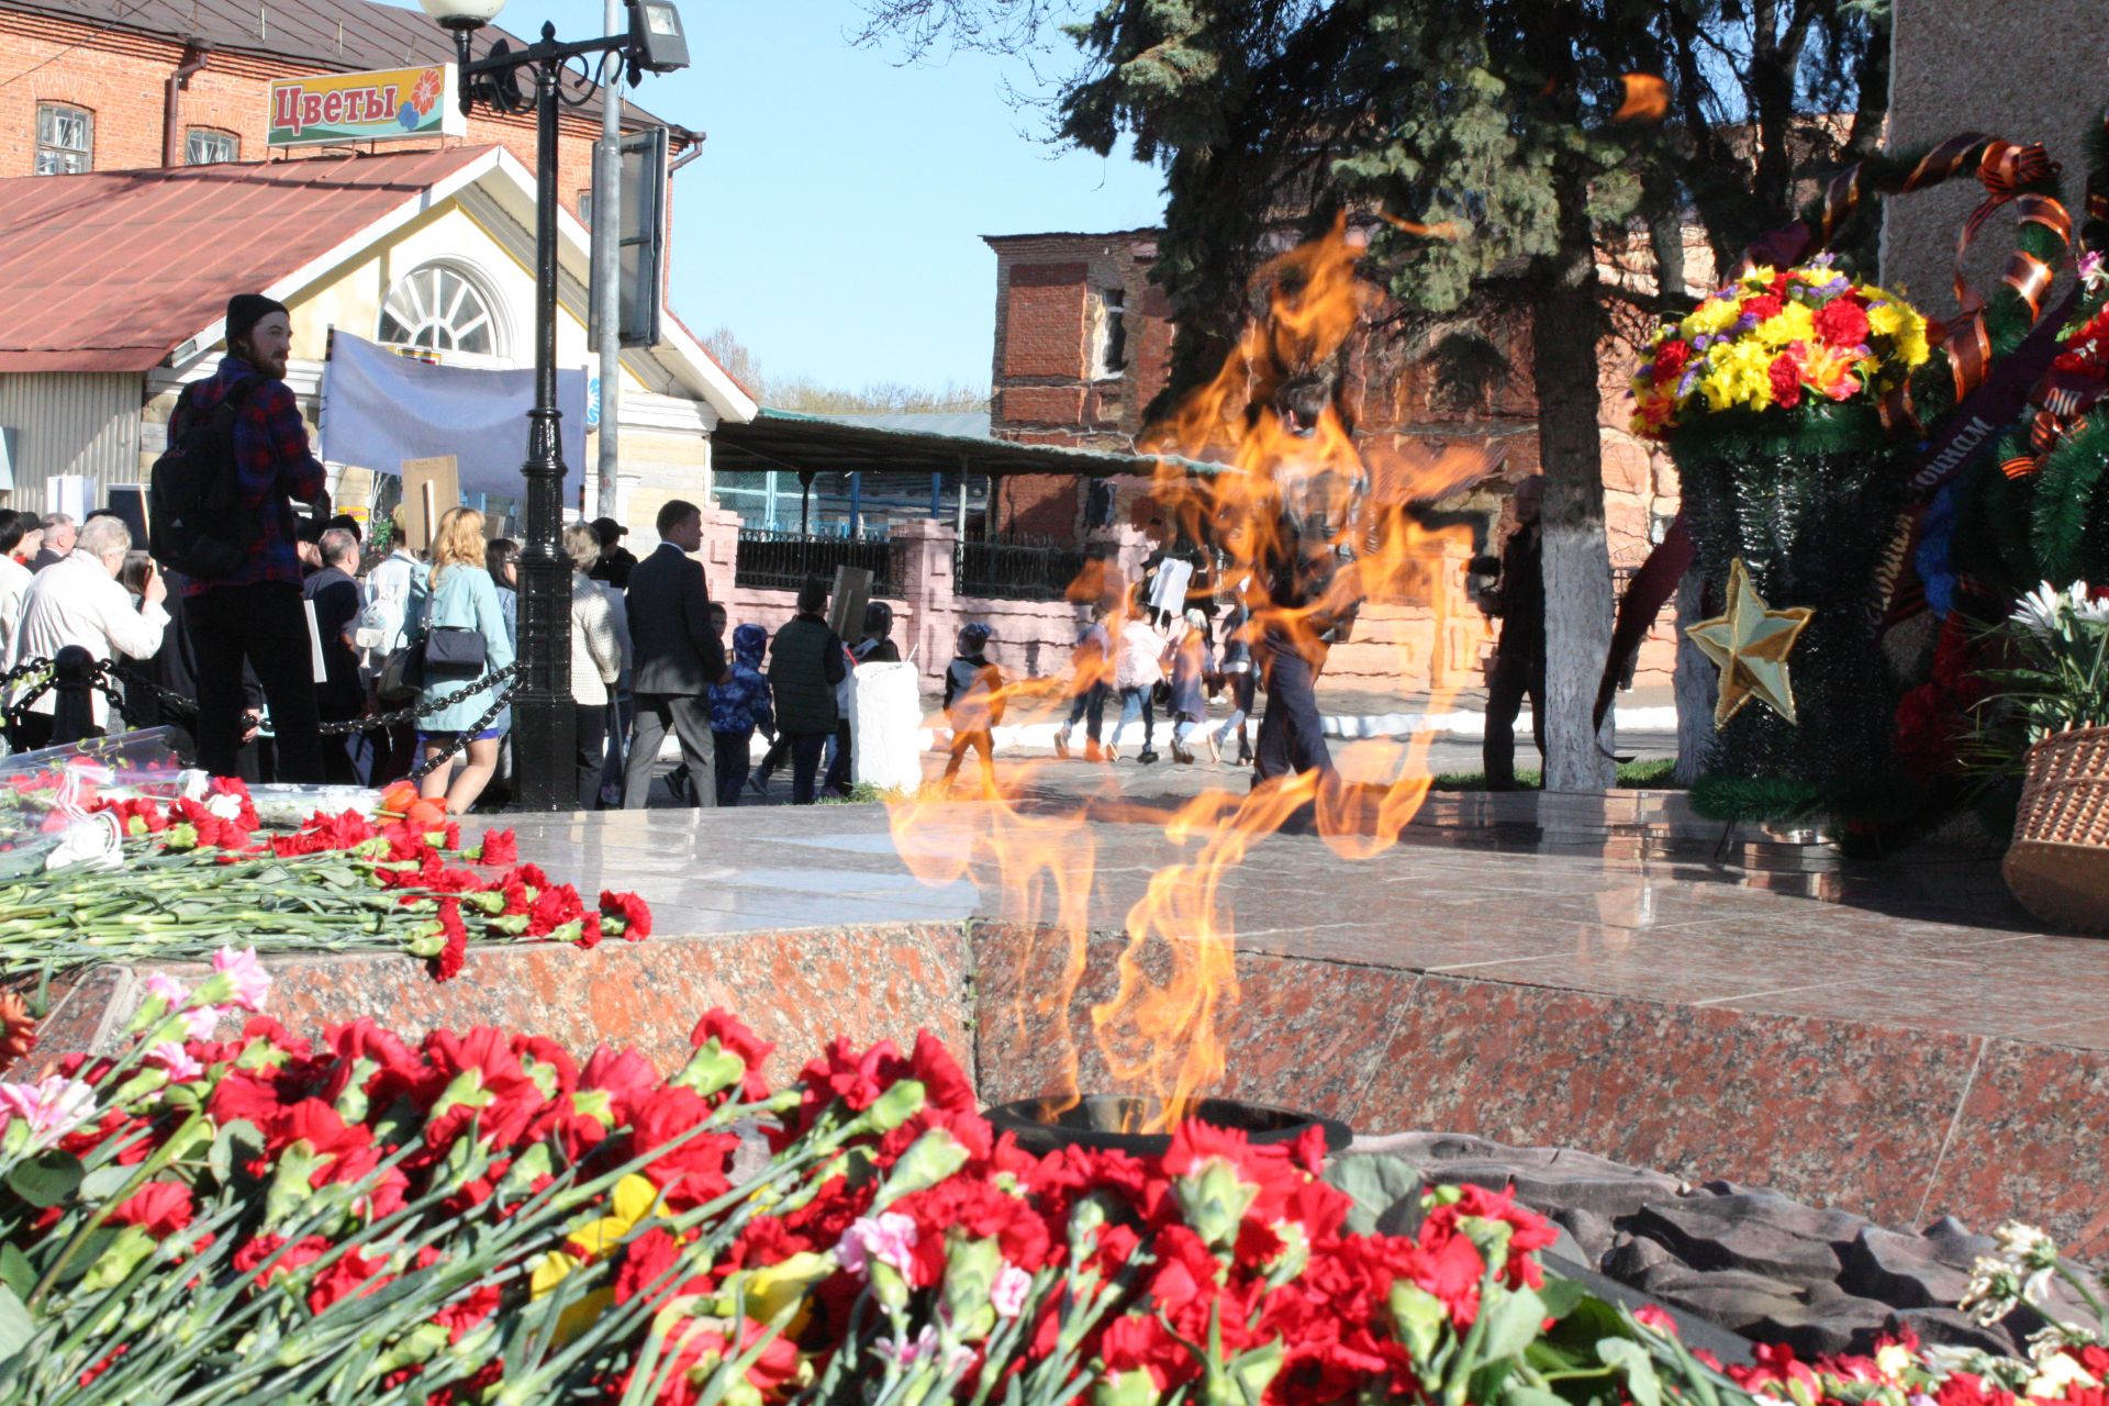
M236 382L262 375L240 356L224 356L209 379L192 384L169 417L169 438L181 438L192 415L211 415ZM255 586L285 582L299 586L299 556L287 531L287 514L276 504L312 502L323 495L323 464L308 451L308 426L285 382L264 377L243 401L234 419L234 466L240 474L243 508L257 514L259 533L249 544L249 561L234 575L215 582L186 582L183 594L196 597L215 586Z

